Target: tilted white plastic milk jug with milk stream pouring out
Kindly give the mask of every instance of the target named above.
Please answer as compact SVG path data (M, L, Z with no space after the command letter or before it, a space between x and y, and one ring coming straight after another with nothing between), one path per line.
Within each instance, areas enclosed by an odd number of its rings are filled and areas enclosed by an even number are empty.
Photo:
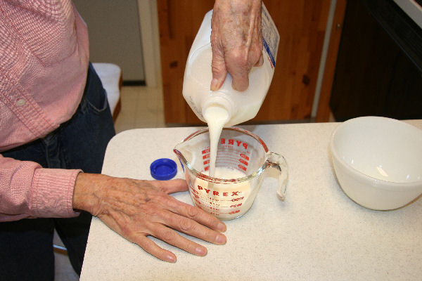
M252 68L246 91L236 91L231 87L230 74L227 74L219 90L211 91L211 18L212 11L209 11L205 14L189 52L184 73L183 96L196 116L207 122L210 129L210 176L226 178L224 175L215 175L220 133L223 127L234 126L257 115L274 74L280 37L267 8L262 5L264 64Z

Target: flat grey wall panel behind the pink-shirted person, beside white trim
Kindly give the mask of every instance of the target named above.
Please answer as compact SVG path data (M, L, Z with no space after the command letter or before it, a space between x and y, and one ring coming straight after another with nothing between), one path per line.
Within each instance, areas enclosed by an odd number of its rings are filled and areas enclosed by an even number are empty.
M93 63L115 63L124 80L145 81L138 0L73 0L87 22Z

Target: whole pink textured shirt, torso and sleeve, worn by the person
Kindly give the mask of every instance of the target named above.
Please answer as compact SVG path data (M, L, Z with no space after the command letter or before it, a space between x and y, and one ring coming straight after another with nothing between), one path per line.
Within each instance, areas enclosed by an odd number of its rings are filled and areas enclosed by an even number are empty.
M88 45L71 0L0 0L0 152L72 117L87 79ZM76 216L79 172L0 155L0 221Z

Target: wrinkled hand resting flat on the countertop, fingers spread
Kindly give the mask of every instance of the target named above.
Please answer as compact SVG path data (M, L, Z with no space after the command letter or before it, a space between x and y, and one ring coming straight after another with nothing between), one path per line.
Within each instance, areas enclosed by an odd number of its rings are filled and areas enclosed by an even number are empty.
M176 256L158 247L149 235L205 256L207 249L186 239L175 230L214 244L225 244L226 226L214 216L168 195L188 190L186 181L139 181L98 174L79 174L73 195L73 208L89 211L127 240L163 261Z

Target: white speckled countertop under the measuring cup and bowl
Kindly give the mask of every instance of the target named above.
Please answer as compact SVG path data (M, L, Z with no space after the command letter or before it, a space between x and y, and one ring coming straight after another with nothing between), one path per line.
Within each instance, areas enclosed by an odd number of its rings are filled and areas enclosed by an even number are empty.
M422 128L422 120L409 121ZM422 280L422 199L395 211L371 211L352 202L336 181L328 143L338 123L241 126L286 157L285 202L266 178L251 209L226 221L227 244L160 261L93 218L80 280ZM134 129L109 143L103 174L152 179L149 165L168 157L199 127ZM192 204L188 192L174 195Z

